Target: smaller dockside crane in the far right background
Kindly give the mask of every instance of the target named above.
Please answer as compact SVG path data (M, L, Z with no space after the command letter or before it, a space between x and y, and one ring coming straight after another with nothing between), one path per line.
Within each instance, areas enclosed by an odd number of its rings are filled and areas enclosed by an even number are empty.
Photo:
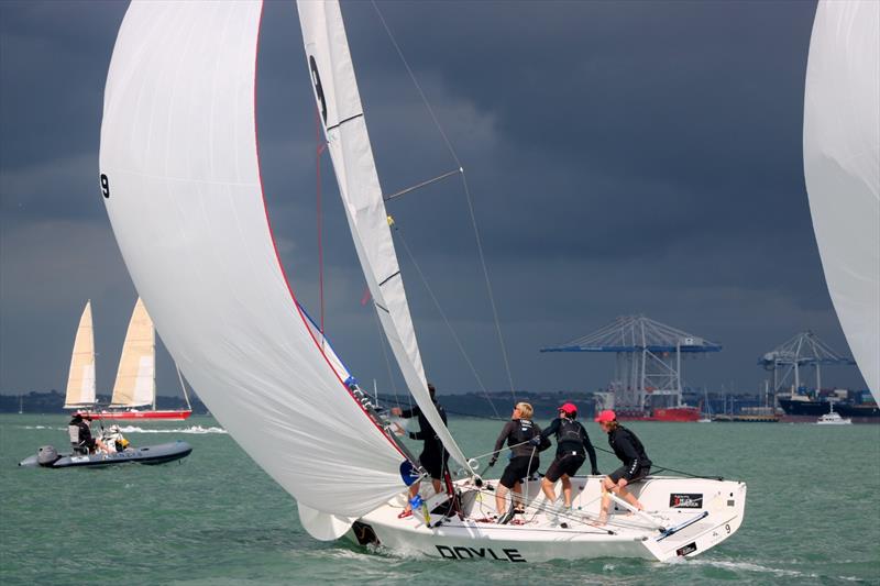
M792 396L806 384L802 368L812 366L816 392L822 388L822 366L853 366L856 361L845 356L807 330L768 352L758 361L766 371L773 372L773 392L791 388Z

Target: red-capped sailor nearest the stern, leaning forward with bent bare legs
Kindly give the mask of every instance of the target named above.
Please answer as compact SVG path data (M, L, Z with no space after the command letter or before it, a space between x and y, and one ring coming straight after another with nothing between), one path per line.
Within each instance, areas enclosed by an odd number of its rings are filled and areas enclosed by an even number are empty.
M608 434L608 445L614 450L614 455L624 463L623 466L602 479L604 490L598 522L605 524L608 520L608 508L612 501L608 493L615 493L639 510L644 509L641 502L626 489L626 486L648 476L651 472L651 461L636 434L617 422L617 414L614 411L610 409L602 411L596 416L596 423L600 424L602 431Z

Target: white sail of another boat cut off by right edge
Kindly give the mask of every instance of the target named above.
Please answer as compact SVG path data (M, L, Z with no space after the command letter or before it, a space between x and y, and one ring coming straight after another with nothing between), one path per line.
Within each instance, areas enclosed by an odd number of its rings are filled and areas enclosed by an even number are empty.
M804 177L846 340L880 402L880 2L821 1L804 97Z

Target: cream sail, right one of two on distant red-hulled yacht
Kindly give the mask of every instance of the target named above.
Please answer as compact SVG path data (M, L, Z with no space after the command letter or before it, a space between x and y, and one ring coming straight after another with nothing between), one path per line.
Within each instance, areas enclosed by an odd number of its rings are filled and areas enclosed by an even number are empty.
M143 407L156 398L156 336L153 320L138 298L122 344L111 407Z

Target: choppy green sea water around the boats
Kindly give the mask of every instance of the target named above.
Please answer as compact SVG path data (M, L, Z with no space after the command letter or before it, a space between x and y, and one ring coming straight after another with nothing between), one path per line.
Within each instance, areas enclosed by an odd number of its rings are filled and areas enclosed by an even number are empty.
M748 483L740 530L674 564L526 566L316 541L294 500L207 417L128 427L135 445L189 442L180 464L16 467L40 445L65 446L66 422L0 416L0 584L880 584L880 425L634 422L658 466ZM450 427L466 454L483 454L502 423ZM616 466L600 453L603 472Z

